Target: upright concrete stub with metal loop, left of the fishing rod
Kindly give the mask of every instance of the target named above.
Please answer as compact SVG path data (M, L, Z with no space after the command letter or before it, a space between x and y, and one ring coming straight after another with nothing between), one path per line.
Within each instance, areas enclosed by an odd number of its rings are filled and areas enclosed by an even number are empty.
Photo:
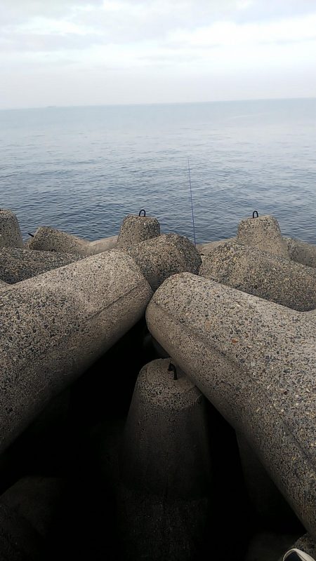
M117 248L126 249L141 241L149 240L160 235L160 224L157 218L151 216L126 216L121 224Z

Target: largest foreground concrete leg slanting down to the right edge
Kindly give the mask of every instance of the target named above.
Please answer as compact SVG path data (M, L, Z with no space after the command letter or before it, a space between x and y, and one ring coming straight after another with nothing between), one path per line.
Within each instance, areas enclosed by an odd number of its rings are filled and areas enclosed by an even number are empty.
M248 440L316 537L316 323L206 278L165 280L147 307L153 337Z

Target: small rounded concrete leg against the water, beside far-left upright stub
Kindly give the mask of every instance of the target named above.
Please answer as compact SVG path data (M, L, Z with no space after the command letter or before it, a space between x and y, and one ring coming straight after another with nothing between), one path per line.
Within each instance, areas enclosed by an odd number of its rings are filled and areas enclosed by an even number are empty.
M82 240L67 232L55 230L54 228L41 226L29 242L31 250L56 251L59 253L74 253L75 255L86 255L88 241Z

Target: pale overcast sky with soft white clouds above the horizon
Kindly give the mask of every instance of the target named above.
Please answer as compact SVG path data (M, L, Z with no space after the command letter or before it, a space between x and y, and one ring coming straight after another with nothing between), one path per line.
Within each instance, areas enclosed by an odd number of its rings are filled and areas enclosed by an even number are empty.
M0 0L0 108L316 97L316 0Z

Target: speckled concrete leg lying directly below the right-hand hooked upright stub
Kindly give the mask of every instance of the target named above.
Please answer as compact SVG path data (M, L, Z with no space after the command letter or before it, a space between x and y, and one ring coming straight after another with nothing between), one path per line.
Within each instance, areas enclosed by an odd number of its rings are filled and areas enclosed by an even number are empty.
M316 271L257 248L224 243L204 259L199 274L298 311L316 308Z

